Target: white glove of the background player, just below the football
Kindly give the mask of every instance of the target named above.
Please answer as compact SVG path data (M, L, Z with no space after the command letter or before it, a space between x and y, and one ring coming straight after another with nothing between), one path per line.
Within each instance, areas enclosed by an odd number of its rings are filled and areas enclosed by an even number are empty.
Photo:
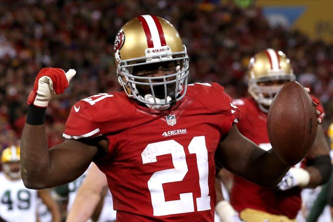
M296 186L305 187L309 182L310 174L308 171L298 167L291 167L277 187L279 190L289 190Z

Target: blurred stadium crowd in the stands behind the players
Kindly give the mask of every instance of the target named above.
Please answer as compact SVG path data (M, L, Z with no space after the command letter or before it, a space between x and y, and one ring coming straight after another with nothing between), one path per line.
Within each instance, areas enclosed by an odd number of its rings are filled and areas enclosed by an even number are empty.
M121 26L140 14L164 17L179 30L190 56L190 82L219 82L233 98L247 95L251 56L266 48L285 52L298 80L324 105L324 129L333 121L333 5L328 0L0 2L0 148L19 144L26 98L43 67L77 71L69 89L47 109L49 146L64 140L75 101L121 90L113 42Z

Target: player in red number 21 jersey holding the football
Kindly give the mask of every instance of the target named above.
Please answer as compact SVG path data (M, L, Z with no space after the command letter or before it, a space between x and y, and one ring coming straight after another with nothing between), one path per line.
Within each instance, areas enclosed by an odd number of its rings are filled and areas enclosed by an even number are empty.
M239 133L239 110L221 85L187 84L186 46L170 22L135 17L121 28L113 49L124 91L75 103L67 140L50 149L46 107L75 71L44 68L37 74L21 140L28 188L68 183L94 161L106 174L117 222L209 222L215 151L225 168L262 186L276 186L289 170L274 149L260 149Z

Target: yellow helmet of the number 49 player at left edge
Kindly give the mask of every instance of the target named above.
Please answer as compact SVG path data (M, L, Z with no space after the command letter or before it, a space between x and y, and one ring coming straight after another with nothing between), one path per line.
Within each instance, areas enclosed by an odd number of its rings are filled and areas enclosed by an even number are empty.
M1 165L4 174L12 180L21 178L20 148L11 146L3 149L1 154ZM13 166L13 164L16 164Z

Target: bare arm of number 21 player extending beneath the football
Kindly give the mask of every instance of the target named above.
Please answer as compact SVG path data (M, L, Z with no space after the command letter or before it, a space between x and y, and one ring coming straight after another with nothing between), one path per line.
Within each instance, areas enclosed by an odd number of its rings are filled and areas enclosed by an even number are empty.
M238 159L238 161L234 161ZM276 186L290 166L273 149L265 151L232 127L215 152L215 160L230 172L263 187Z

